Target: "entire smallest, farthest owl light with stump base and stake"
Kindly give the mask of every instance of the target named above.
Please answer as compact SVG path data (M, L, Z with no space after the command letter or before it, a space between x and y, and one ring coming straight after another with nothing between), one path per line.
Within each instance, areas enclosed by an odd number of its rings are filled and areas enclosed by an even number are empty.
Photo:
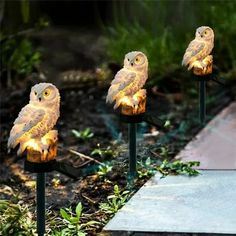
M206 81L212 79L213 56L210 55L214 47L214 32L208 26L197 28L195 39L190 42L183 57L182 64L193 70L199 81L199 118L202 125L206 116Z

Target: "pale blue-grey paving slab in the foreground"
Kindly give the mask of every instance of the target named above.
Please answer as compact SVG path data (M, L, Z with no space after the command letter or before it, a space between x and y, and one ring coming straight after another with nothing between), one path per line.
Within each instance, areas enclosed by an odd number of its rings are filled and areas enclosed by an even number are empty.
M157 174L104 230L112 235L130 232L236 235L235 201L236 171L206 170L197 177L163 179Z

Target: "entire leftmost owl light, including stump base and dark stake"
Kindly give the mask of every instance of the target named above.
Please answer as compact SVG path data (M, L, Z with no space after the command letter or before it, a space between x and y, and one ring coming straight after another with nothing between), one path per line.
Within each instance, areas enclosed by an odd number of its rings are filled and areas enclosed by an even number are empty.
M45 233L45 173L54 169L57 131L52 130L59 117L60 95L50 83L32 87L30 102L19 113L8 139L8 148L20 145L27 152L25 170L37 173L37 233Z

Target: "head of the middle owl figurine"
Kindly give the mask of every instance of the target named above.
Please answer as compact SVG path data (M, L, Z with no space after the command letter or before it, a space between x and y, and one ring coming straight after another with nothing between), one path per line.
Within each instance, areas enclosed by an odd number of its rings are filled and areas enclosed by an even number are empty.
M129 52L125 55L124 67L130 70L143 71L148 69L148 59L146 55L139 51Z

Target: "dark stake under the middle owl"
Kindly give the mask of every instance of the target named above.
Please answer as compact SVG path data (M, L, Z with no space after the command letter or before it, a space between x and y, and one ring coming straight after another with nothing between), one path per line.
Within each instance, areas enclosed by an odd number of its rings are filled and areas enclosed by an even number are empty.
M129 181L133 186L134 178L137 172L136 168L136 123L129 123Z

